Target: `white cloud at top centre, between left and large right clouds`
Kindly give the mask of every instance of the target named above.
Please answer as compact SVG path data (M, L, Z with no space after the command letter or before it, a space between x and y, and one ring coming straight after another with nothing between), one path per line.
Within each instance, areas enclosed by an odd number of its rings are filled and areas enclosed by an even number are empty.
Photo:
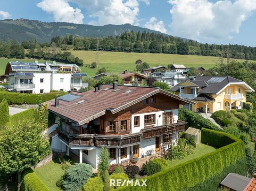
M88 11L89 24L138 24L138 0L71 0ZM95 17L95 19L94 19Z

